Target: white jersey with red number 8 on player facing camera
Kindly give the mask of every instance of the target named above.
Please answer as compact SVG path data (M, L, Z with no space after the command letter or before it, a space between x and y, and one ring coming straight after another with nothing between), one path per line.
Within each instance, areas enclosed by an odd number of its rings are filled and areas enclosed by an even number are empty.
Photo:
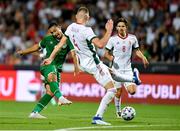
M132 49L138 48L139 44L135 35L128 34L126 38L118 35L112 36L106 49L113 50L113 69L118 71L129 71L131 69Z

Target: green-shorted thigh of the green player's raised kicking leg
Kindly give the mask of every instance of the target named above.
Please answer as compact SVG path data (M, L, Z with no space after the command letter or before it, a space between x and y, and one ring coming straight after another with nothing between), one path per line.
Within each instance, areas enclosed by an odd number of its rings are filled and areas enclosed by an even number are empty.
M41 66L40 71L46 82L57 81L58 72L54 65Z

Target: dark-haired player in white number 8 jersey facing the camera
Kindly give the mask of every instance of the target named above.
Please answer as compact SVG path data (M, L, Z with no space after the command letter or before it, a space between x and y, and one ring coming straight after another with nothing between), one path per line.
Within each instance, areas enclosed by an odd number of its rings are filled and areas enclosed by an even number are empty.
M124 18L120 18L117 21L116 30L117 34L112 36L107 45L105 51L105 58L111 61L112 69L122 75L133 76L131 67L132 55L138 56L146 67L149 63L146 57L139 50L139 44L135 35L127 32L128 22ZM138 70L134 68L134 71ZM117 93L115 95L115 107L117 117L121 116L121 92L122 88L125 87L128 93L131 95L136 92L136 84L132 82L116 82Z

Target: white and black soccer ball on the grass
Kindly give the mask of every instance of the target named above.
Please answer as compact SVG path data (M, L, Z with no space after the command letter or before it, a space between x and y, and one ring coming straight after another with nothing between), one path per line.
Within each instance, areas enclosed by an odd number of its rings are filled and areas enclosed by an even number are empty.
M135 117L135 115L136 111L133 107L126 106L122 109L121 117L126 121L132 120Z

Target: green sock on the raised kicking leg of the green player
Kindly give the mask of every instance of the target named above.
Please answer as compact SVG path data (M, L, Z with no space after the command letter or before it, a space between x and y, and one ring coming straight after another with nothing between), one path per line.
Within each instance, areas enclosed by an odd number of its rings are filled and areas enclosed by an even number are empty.
M50 82L49 85L51 92L54 94L54 96L56 96L59 99L59 97L62 96L62 93L59 90L58 82Z

